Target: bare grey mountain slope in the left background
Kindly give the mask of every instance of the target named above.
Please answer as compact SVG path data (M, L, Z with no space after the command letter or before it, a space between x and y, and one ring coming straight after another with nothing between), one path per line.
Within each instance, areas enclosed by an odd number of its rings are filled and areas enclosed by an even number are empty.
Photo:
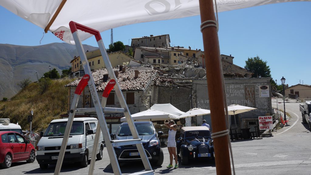
M86 50L96 50L97 47L83 45ZM25 78L37 81L45 72L56 68L61 74L68 69L70 61L78 56L76 45L67 43L51 43L39 46L21 46L0 44L0 100L11 98L19 87L17 83Z

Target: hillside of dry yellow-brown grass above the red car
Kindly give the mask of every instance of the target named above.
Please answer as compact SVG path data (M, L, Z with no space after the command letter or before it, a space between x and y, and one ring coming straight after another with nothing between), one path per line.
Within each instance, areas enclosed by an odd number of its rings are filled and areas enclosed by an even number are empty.
M10 101L0 102L0 118L10 118L12 123L29 130L27 116L34 111L32 130L43 131L53 119L67 113L68 89L64 87L74 79L40 79L39 83L30 83L21 89Z

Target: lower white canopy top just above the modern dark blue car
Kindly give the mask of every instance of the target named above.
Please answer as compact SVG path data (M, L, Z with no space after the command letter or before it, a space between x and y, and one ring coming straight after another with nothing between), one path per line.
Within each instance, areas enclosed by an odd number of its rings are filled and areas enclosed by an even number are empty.
M174 114L162 112L162 111L156 111L153 109L148 109L146 111L132 114L132 119L138 120L138 121L174 120L176 117L178 116ZM124 122L124 121L126 121L126 118L122 117L121 122Z

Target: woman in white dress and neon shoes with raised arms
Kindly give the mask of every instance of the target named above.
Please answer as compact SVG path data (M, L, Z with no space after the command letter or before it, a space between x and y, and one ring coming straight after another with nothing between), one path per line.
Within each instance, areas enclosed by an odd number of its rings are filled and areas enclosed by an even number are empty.
M174 168L178 168L178 158L176 154L176 130L177 125L173 120L170 120L168 123L165 123L165 126L169 128L169 136L167 138L167 149L169 150L169 165L166 168L173 168L173 155L175 158Z

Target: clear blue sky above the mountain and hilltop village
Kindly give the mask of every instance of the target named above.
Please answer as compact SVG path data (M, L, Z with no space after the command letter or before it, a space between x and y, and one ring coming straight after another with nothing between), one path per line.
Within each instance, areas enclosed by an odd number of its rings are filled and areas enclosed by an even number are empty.
M234 56L234 64L243 67L248 57L259 56L270 66L272 78L280 84L282 76L289 86L311 85L311 2L286 2L220 12L220 53ZM0 6L1 44L40 45L43 29ZM131 38L169 34L171 46L202 49L200 16L155 21L114 28L114 42L131 43ZM101 33L104 45L110 44L110 30ZM41 45L63 42L51 32ZM82 42L97 46L94 37ZM309 51L308 51L309 50Z

